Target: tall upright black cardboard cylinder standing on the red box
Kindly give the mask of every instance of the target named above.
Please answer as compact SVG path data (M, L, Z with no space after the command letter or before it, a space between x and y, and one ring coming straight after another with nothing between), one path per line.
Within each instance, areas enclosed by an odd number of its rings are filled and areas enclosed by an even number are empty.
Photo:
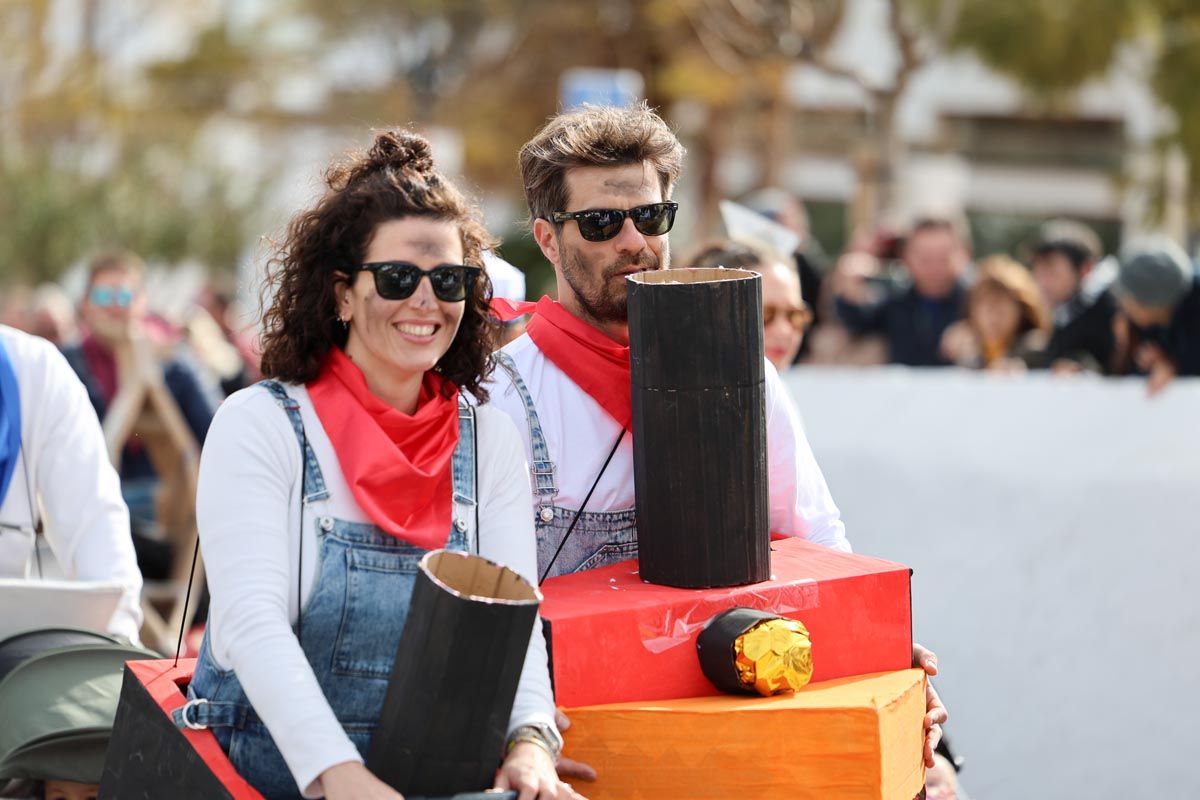
M745 270L628 279L637 549L650 583L770 577L761 285Z

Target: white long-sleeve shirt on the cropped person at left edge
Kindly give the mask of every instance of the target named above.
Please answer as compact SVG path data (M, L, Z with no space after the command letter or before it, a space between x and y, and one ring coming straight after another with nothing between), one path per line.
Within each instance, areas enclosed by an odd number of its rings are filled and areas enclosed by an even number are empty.
M0 325L0 341L17 375L22 447L0 504L0 577L31 577L41 504L46 541L62 572L68 579L120 583L108 631L138 642L142 573L130 511L88 390L46 339Z

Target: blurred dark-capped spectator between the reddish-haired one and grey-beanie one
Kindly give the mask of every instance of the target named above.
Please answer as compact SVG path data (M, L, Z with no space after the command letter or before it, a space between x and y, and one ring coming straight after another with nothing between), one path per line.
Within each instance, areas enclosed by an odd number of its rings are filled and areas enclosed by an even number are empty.
M1056 372L1099 372L1114 367L1112 317L1117 303L1096 266L1103 255L1099 236L1069 219L1042 225L1033 247L1033 279L1051 309L1050 341L1032 354L1031 367Z

